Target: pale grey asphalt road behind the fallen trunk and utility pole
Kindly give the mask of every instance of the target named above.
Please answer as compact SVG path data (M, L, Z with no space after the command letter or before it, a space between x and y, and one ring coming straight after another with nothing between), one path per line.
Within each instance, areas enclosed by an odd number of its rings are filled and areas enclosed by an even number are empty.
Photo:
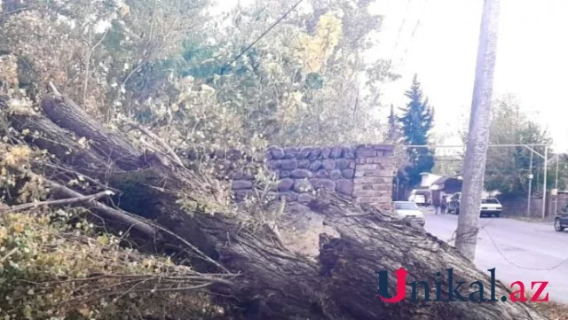
M424 228L438 238L451 239L457 215L426 213ZM531 281L548 281L550 300L568 303L568 231L556 232L552 222L523 222L481 218L475 263L510 285L520 280L525 290ZM537 289L535 287L534 289Z

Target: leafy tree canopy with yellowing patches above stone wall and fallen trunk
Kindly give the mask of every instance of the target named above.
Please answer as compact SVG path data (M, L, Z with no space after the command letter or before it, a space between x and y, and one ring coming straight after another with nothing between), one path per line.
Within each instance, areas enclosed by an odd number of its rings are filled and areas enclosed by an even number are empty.
M27 0L4 4L0 49L28 66L12 88L51 81L111 125L133 118L180 147L377 143L374 89L395 75L364 59L382 22L369 4L305 1L261 36L291 4L217 17L209 0Z

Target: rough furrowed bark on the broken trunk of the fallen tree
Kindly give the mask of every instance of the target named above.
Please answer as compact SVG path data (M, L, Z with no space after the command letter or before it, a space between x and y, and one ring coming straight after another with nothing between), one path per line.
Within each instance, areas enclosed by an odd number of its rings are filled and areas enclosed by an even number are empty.
M245 309L237 312L234 308L235 315L275 320L545 319L522 303L403 301L387 304L376 297L376 271L379 270L391 273L404 267L409 272L409 282L425 281L432 288L437 281L447 284L445 269L454 268L454 281L466 281L468 285L483 281L485 297L490 290L488 273L477 270L454 247L422 229L398 221L390 213L356 206L347 199L326 193L308 207L299 207L299 210L321 215L340 235L335 238L320 235L317 261L277 245L272 241L271 230L256 234L243 230L234 215L201 212L189 215L177 203L179 192L192 185L188 172L158 162L145 168L148 164L140 162L140 152L126 139L117 133L111 135L96 121L74 110L77 108L74 104L46 98L42 106L54 123L98 142L97 148L92 150L92 159L99 159L100 153L105 153L122 169L111 176L108 183L122 191L120 207L123 210L153 219L164 230L199 248L209 259L230 272L241 274L232 286L212 287L219 296L229 297L224 298L225 302ZM59 132L55 124L51 127L43 133ZM44 146L58 152L54 145ZM124 153L119 157L117 150ZM65 158L61 161L74 168L84 165ZM218 266L211 263L195 263L193 267L205 272L218 271ZM442 272L442 277L437 277L437 272ZM389 290L395 292L394 281L390 281ZM466 287L461 293L467 297L471 291ZM499 282L495 291L498 299L509 296L508 289ZM441 297L446 298L447 285L442 285L441 292Z

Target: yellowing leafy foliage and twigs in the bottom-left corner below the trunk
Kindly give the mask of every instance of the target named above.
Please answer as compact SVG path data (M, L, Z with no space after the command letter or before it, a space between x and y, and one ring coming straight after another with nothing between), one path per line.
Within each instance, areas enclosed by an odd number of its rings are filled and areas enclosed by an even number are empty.
M222 278L121 247L121 238L76 222L77 214L57 210L0 218L0 313L5 319L222 315L201 293ZM71 218L75 223L68 224Z

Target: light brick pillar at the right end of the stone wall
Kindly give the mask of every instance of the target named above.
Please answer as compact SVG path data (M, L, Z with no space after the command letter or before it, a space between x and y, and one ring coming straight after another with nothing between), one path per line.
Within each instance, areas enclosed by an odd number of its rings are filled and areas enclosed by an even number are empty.
M352 197L381 209L392 207L394 146L363 144L355 151L355 177Z

